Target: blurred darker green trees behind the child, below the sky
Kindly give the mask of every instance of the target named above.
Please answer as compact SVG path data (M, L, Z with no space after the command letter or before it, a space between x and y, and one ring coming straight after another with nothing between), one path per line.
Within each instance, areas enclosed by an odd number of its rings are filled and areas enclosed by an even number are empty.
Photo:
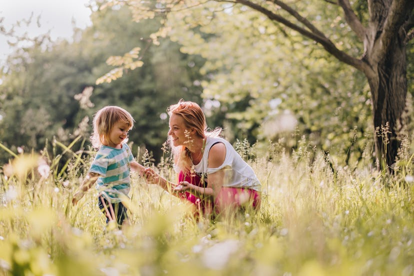
M87 140L93 113L104 105L119 105L136 121L129 137L133 151L147 148L159 158L167 133L160 114L180 98L200 101L200 88L193 82L203 59L180 53L167 40L160 46L149 44L147 37L159 23L137 24L130 17L126 8L95 11L93 25L75 30L72 42L16 49L2 68L0 141L16 152L17 147L39 150L53 137L67 143L78 135ZM121 79L95 84L110 68L105 60L114 64L116 58L110 56L125 52L135 56L137 45L145 67L125 68ZM9 157L0 151L0 160Z

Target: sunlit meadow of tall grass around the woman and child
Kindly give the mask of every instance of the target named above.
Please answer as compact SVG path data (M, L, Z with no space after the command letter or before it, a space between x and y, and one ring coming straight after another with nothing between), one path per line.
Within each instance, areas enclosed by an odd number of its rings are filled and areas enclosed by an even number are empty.
M11 154L2 166L0 274L414 274L409 147L388 173L374 168L369 146L345 166L304 141L293 151L241 143L237 150L262 183L259 212L196 219L182 201L132 174L131 223L118 229L105 225L94 189L72 206L90 162L72 145L55 143L71 156L63 167L54 150ZM138 161L174 177L167 156Z

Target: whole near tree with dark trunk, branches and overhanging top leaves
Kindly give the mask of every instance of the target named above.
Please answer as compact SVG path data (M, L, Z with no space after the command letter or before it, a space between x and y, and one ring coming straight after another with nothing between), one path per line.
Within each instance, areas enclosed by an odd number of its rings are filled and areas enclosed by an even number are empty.
M364 74L370 90L372 125L379 130L388 126L386 132L382 133L385 136L375 132L376 156L385 165L390 166L395 161L400 145L398 132L406 123L401 115L406 107L406 49L413 35L413 1L351 3L348 0L338 0L321 2L318 5L314 1L305 0L289 4L280 0L162 0L110 1L107 4L127 4L134 10L132 14L135 21L162 14L163 27L154 37L165 36L169 30L177 31L169 20L184 22L188 29L207 25L219 12L232 16L234 10L247 12L246 7L249 7L266 16L267 20L277 25L286 35L300 34L316 42L339 61ZM236 9L238 5L242 6ZM325 16L332 22L330 29L323 25L327 20L321 20ZM351 35L349 30L357 38L354 43L346 43L347 39L342 39ZM192 39L202 40L202 37L196 35Z

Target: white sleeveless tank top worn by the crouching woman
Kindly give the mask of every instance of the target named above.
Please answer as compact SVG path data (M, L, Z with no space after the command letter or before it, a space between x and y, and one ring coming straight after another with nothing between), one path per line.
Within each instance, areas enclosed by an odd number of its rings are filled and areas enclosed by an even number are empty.
M221 142L225 145L225 158L224 162L219 167L211 168L207 165L208 152L211 146L217 142ZM223 179L223 187L261 190L261 184L254 174L253 169L241 158L233 146L223 138L207 136L202 159L198 164L194 165L194 170L197 174L204 174L207 177L208 182L208 174L221 169L224 170L225 175Z

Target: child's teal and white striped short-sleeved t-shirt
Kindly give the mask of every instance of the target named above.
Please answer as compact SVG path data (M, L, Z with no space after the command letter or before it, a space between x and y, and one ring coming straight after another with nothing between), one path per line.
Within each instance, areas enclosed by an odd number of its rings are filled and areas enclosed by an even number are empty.
M89 172L98 173L96 189L112 203L121 202L120 193L128 195L130 165L133 155L126 143L122 148L102 145L90 165Z

